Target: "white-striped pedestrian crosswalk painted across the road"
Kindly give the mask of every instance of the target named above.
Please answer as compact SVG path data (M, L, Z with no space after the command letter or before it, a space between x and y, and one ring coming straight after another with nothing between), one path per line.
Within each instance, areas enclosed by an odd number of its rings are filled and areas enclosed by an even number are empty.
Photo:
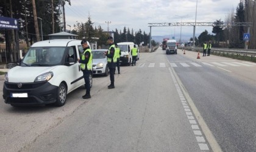
M138 63L137 63L138 64ZM140 63L137 67L253 67L256 66L256 63L250 62L239 62L239 61L220 61L220 62L193 62L193 61L186 61L186 62L170 62L170 63Z

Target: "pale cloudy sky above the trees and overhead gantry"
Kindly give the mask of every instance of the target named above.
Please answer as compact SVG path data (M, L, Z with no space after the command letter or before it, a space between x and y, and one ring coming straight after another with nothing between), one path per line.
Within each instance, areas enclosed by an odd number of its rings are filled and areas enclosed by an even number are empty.
M87 22L88 16L93 27L101 26L107 31L142 30L149 34L148 23L160 22L215 22L226 21L227 16L235 12L240 0L71 0L66 3L66 29L73 29L76 22ZM196 7L197 4L197 7ZM196 9L197 8L197 9ZM197 10L197 13L196 13ZM106 22L109 22L107 24ZM196 36L212 27L196 27ZM193 37L193 27L152 27L152 36L175 36L176 40L189 40Z

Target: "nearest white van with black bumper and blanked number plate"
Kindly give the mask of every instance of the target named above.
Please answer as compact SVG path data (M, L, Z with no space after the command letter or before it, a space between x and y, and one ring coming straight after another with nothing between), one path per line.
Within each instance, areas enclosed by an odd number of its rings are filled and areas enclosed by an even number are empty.
M63 106L66 95L85 84L77 62L83 52L80 42L69 39L34 43L19 65L5 74L4 102L12 106L49 103ZM92 83L91 74L91 86Z

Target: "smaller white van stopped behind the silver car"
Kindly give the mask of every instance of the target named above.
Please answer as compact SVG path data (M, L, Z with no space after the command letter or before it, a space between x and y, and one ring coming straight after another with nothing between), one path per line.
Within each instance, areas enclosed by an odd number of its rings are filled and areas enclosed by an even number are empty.
M130 64L132 63L132 55L130 54L130 50L132 50L134 43L133 42L121 42L117 43L120 48L120 64Z

